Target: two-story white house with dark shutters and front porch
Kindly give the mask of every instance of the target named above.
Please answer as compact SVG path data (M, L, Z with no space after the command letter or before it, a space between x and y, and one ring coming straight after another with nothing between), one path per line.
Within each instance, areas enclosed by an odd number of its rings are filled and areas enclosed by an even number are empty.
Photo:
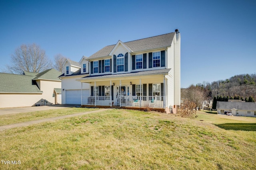
M167 113L176 113L180 105L178 29L126 43L119 40L75 65L68 60L63 64L62 103L80 99L83 106L154 107Z

